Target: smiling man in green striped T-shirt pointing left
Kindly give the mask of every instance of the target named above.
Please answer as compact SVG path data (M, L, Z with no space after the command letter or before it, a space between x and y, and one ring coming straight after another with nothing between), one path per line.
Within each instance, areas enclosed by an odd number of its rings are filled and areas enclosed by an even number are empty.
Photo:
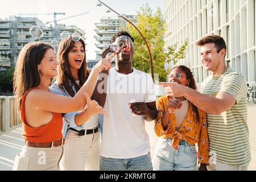
M176 82L160 85L167 86L170 96L185 96L208 113L208 170L247 170L251 154L245 77L226 67L226 43L220 36L205 36L197 46L204 68L212 73L201 84L201 93Z

